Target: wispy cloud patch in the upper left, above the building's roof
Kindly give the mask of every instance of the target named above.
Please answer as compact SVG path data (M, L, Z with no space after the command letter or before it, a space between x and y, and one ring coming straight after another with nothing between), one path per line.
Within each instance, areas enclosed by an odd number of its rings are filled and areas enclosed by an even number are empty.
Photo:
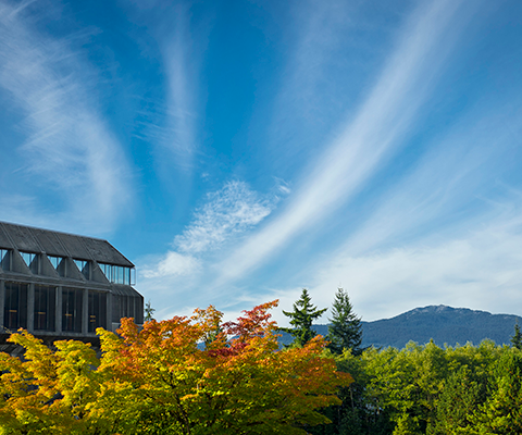
M73 47L78 35L54 38L39 32L38 8L36 2L0 4L0 89L4 103L24 116L18 173L64 202L51 213L63 227L74 215L75 224L100 233L126 207L128 169L92 96L96 73Z

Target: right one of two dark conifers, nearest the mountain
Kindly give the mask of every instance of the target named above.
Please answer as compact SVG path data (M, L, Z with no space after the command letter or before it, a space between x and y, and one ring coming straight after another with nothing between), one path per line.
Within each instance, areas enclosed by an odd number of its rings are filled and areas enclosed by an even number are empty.
M338 288L332 306L332 319L328 319L328 349L336 355L344 349L351 349L353 355L360 355L362 343L361 319L353 312L348 293Z

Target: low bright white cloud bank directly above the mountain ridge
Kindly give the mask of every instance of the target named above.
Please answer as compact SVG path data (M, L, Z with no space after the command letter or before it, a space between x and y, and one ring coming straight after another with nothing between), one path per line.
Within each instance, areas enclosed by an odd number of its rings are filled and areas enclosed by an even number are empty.
M331 303L341 284L356 311L376 320L415 307L448 304L513 312L522 302L522 221L505 220L452 240L421 240L337 261L316 275L315 303Z

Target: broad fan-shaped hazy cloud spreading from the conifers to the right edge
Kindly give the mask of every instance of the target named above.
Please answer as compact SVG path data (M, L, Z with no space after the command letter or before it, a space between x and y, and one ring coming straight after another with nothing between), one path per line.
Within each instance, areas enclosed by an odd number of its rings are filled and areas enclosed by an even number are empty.
M517 170L522 111L494 108L478 105L438 138L316 265L322 303L339 285L368 320L438 303L508 312L505 301L520 300L522 192L501 179Z

